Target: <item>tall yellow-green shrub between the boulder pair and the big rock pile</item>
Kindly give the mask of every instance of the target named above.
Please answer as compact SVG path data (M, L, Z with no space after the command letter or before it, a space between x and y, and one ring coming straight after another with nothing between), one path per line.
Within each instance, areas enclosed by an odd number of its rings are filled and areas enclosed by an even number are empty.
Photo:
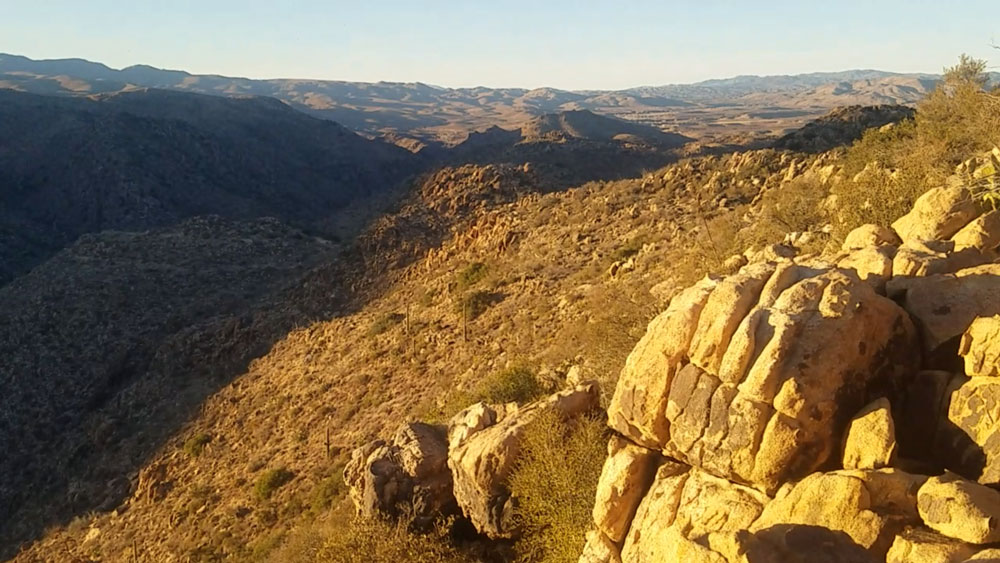
M604 423L596 417L570 424L547 412L525 432L510 479L523 533L516 545L522 561L577 561L592 518L606 444Z

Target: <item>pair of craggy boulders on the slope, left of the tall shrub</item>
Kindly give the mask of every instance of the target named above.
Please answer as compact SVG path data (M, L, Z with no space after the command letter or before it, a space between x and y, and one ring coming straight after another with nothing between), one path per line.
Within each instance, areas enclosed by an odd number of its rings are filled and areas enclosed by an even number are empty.
M404 425L391 440L355 449L344 480L358 513L403 517L416 529L459 511L493 539L517 535L508 480L526 431L555 414L569 421L599 408L595 383L526 406L476 403L447 425Z

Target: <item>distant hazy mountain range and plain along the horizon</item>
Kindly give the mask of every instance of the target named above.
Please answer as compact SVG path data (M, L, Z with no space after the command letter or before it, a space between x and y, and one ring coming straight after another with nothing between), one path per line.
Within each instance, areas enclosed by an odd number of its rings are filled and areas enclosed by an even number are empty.
M912 104L939 77L877 70L739 76L621 91L442 88L423 83L254 80L136 65L116 70L82 59L0 54L0 88L94 95L136 88L268 96L368 135L394 133L456 144L490 126L512 129L546 113L587 109L695 137L721 129L778 134L847 105ZM994 77L1000 79L1000 75Z

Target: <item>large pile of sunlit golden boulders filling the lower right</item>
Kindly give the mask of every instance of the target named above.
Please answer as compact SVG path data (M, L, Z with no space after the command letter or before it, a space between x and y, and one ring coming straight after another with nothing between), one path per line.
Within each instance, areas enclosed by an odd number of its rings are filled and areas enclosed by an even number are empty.
M998 245L943 187L679 293L609 405L581 563L1000 561Z

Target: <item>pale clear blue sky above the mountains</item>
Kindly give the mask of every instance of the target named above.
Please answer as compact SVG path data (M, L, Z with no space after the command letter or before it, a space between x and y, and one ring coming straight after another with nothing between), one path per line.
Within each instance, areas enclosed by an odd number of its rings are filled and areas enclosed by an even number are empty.
M0 52L196 74L622 89L1000 66L997 0L0 0Z

